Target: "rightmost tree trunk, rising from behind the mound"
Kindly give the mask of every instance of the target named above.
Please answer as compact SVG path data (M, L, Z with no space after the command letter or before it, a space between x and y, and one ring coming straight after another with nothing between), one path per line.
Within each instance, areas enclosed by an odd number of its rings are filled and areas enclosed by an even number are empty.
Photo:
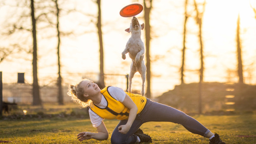
M242 51L241 51L241 44L240 44L240 16L238 14L237 17L237 61L238 61L238 77L239 77L239 84L244 83L244 78L243 78L243 64L242 64Z

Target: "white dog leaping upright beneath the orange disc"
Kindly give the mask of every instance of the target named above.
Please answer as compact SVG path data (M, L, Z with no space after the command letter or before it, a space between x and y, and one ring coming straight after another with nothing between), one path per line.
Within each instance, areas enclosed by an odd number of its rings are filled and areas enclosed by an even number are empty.
M141 40L141 30L145 28L144 23L140 24L138 19L133 16L133 19L130 23L130 28L127 28L125 31L131 33L131 37L126 43L126 48L122 52L122 58L126 59L126 53L129 53L132 63L130 65L130 74L129 74L129 86L128 92L132 92L132 79L136 72L139 72L142 78L142 90L141 95L145 95L145 80L146 80L146 65L144 64L144 53L145 47L144 43Z

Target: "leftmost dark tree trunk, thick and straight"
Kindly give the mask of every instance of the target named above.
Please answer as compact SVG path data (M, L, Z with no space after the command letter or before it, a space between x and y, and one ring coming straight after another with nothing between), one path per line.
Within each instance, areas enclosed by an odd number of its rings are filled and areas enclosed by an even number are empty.
M33 35L33 105L41 105L38 76L37 76L37 43L36 43L36 19L34 12L34 0L31 0L31 19Z

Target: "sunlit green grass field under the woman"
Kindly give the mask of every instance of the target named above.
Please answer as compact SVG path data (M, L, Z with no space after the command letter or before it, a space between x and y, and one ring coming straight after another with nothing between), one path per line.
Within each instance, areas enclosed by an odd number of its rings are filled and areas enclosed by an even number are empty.
M220 137L226 144L256 144L256 137L236 137L236 135L256 135L256 114L228 116L192 116L206 128ZM21 120L0 120L0 141L11 144L110 144L111 132L119 121L104 120L109 131L109 139L90 139L79 142L79 132L96 132L90 119L68 117L25 118ZM209 140L187 131L182 125L167 122L149 122L142 130L150 135L153 144L208 144Z

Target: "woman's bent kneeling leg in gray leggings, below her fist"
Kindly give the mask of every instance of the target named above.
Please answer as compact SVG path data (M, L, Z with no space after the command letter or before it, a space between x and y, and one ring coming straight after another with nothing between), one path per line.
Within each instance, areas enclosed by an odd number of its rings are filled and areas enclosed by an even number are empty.
M137 135L134 135L134 133L140 128L142 125L142 122L140 119L135 118L130 130L127 132L127 134L121 134L118 131L118 127L120 125L125 125L128 120L121 120L118 125L116 125L116 128L114 129L112 135L111 135L111 144L132 144L137 141Z

